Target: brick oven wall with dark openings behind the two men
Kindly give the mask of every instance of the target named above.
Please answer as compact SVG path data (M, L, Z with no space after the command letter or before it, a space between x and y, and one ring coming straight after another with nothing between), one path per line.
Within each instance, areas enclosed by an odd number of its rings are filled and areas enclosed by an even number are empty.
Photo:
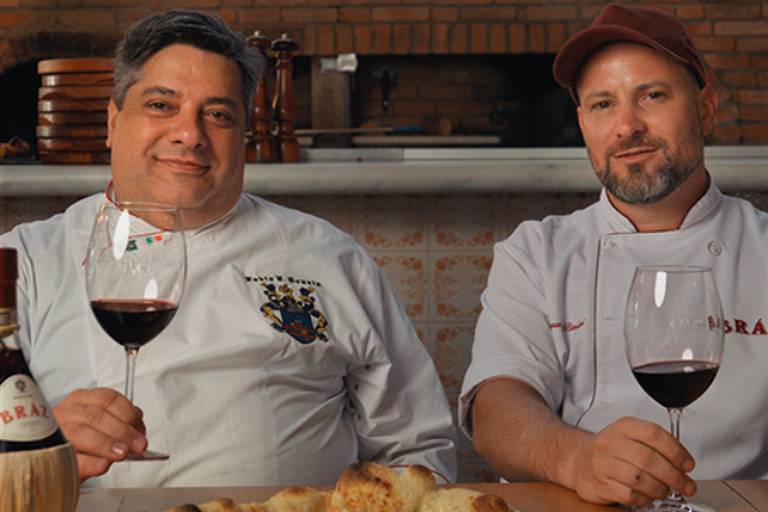
M768 5L640 2L674 12L703 51L720 96L714 144L768 141ZM338 127L318 114L316 61L355 53L344 126L416 125L424 133L497 135L502 146L580 145L573 106L551 79L554 53L604 2L568 0L189 0L244 33L286 32L298 128ZM34 135L34 64L110 56L118 34L151 12L142 0L5 0L0 12L0 139ZM320 103L320 102L315 102ZM327 106L326 106L327 107ZM327 108L326 108L327 110ZM343 114L343 115L342 115ZM13 119L13 122L10 120Z

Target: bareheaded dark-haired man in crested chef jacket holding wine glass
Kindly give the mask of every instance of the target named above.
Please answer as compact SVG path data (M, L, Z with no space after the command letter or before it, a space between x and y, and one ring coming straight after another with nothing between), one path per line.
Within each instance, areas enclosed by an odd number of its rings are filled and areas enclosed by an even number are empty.
M88 311L82 262L103 195L0 237L19 250L22 348L81 478L328 485L373 460L452 480L445 394L381 271L330 224L243 194L260 66L222 20L186 10L138 22L118 47L107 199L179 206L189 261L178 313L141 351L144 412L115 391L122 347ZM123 462L148 444L170 459Z

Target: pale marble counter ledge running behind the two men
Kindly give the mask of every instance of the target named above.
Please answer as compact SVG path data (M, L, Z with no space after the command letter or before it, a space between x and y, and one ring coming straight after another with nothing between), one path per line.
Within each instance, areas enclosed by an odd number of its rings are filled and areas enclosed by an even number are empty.
M583 148L308 150L296 164L248 164L260 195L592 192ZM768 146L714 146L707 168L725 190L768 191ZM84 196L104 190L106 165L0 165L0 197Z

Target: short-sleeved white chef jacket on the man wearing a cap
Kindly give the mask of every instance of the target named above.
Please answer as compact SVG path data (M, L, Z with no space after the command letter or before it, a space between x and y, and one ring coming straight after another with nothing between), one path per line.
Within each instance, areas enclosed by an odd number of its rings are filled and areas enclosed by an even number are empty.
M668 428L624 348L634 268L650 264L711 267L727 319L718 375L681 420L694 478L768 478L768 214L713 184L676 231L636 232L603 191L585 210L524 222L499 242L460 397L462 429L471 435L478 385L500 376L526 382L588 431L623 416Z

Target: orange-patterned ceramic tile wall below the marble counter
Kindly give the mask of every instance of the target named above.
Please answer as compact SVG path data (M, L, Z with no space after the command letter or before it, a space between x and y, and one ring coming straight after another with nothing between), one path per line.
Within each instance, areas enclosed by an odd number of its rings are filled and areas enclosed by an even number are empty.
M768 193L742 194L768 210ZM523 220L584 208L596 194L275 196L352 235L383 269L437 366L456 411L493 244ZM0 199L0 232L62 211L71 199ZM496 478L462 435L459 479Z

